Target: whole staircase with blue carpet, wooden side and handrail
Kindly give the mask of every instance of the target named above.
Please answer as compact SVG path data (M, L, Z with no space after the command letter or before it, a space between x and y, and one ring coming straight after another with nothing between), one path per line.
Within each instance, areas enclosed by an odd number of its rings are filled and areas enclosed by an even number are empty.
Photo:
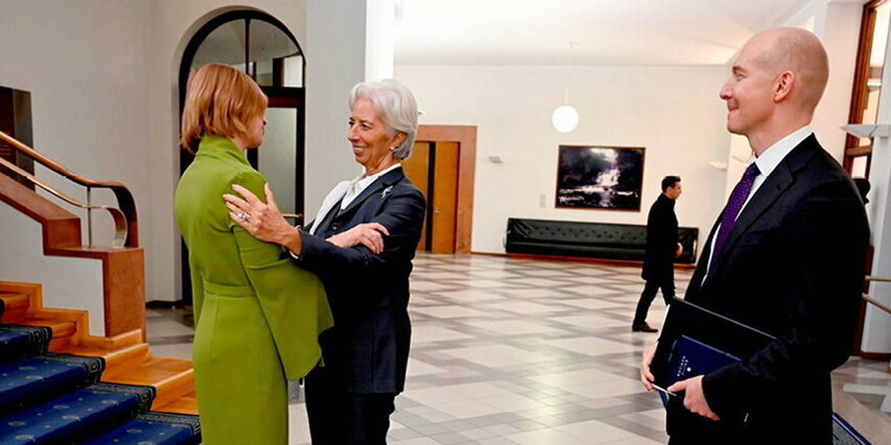
M199 443L192 361L154 357L145 343L144 252L132 193L72 172L3 132L0 145L86 188L81 202L0 158L0 201L40 224L43 255L102 263L105 335L89 335L86 311L45 308L40 285L0 281L0 445ZM113 193L117 206L94 204L91 190ZM80 218L50 196L86 211L86 242ZM94 245L92 212L111 216L110 246ZM78 295L78 283L53 271L38 280Z

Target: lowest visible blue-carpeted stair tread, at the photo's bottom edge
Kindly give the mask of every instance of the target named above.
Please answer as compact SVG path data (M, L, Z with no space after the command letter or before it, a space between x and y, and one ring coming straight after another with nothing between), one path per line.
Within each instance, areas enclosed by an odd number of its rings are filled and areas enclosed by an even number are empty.
M149 412L83 445L192 445L200 442L198 416Z

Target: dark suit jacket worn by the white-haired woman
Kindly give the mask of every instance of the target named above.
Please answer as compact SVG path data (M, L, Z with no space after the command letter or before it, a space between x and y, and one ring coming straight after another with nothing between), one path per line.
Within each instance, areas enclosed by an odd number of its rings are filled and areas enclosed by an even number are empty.
M315 235L303 233L299 265L322 279L334 328L319 338L325 366L348 392L401 392L412 327L408 319L408 276L424 220L426 202L402 168L372 182L342 212L323 218ZM341 248L328 237L361 223L389 231L385 249Z

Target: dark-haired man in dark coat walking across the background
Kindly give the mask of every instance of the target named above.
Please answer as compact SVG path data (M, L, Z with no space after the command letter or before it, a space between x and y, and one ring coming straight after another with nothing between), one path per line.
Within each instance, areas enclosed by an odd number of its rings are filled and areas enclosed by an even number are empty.
M647 217L647 250L643 257L641 278L647 281L643 287L641 299L637 302L631 330L638 332L656 332L647 324L647 311L656 297L659 288L666 306L674 298L674 258L682 253L681 244L677 242L677 216L674 214L674 202L681 196L681 178L666 176L662 180L662 193L650 207Z

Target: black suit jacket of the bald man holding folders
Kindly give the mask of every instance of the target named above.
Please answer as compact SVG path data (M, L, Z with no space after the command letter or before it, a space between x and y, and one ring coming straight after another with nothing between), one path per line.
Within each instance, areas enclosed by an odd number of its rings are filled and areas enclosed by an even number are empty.
M716 228L685 298L778 338L704 377L722 421L675 399L668 433L708 443L831 443L830 371L850 353L869 242L854 183L812 134L740 212L703 282Z

